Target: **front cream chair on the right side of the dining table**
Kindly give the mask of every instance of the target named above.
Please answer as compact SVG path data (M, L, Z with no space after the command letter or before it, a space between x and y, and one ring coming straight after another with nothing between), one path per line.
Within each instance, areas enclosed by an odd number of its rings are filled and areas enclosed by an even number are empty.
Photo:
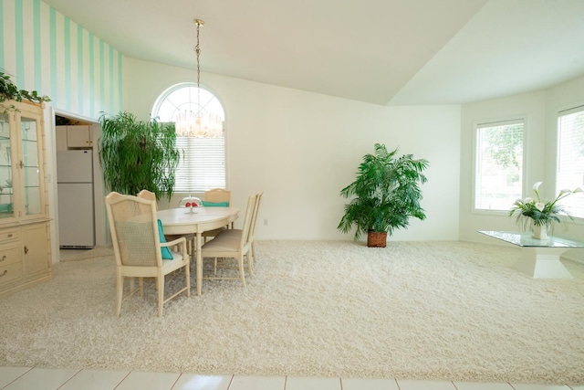
M244 258L247 259L247 268L252 269L250 249L251 245L248 239L249 229L251 227L252 217L254 214L255 195L247 198L247 206L245 207L244 225L240 229L239 235L225 235L233 229L227 229L220 232L214 239L205 243L201 248L201 255L203 258L214 258L214 267L216 269L217 258L235 258L237 260L237 268L239 269L239 278L216 276L203 276L203 279L240 279L242 285L245 287L245 270Z

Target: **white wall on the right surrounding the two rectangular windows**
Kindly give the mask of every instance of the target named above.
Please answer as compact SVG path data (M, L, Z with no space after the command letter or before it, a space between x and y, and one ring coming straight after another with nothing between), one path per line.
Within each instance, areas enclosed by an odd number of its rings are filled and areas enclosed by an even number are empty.
M461 175L460 175L460 239L490 242L492 238L476 233L477 230L517 230L516 219L506 212L479 213L472 210L474 123L523 117L526 119L526 160L524 163L524 194L532 195L532 187L538 181L547 198L555 197L556 186L556 138L558 111L584 104L584 77L574 79L550 90L526 93L495 100L465 104L461 119ZM584 220L567 222L562 236L584 237ZM570 258L584 259L581 250L568 252Z

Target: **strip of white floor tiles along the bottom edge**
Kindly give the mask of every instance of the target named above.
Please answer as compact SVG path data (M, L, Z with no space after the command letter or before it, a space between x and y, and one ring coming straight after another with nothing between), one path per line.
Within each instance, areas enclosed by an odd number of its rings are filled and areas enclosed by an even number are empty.
M0 367L2 390L584 390L584 385L144 373Z

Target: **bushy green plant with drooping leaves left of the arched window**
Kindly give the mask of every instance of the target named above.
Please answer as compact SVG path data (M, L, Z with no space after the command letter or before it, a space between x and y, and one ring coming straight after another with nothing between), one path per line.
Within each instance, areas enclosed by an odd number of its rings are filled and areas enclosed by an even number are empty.
M130 112L102 115L99 122L99 163L110 191L136 195L145 189L170 199L180 159L174 123L137 121Z

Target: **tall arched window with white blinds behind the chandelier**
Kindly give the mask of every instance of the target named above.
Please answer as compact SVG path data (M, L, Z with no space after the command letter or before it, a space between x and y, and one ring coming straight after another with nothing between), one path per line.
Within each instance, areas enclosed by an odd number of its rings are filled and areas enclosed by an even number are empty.
M158 121L176 121L178 113L202 112L224 120L219 100L208 90L197 89L196 84L177 84L162 92L154 103L152 117ZM176 138L176 146L183 153L174 174L174 192L201 194L211 188L225 188L225 137Z

